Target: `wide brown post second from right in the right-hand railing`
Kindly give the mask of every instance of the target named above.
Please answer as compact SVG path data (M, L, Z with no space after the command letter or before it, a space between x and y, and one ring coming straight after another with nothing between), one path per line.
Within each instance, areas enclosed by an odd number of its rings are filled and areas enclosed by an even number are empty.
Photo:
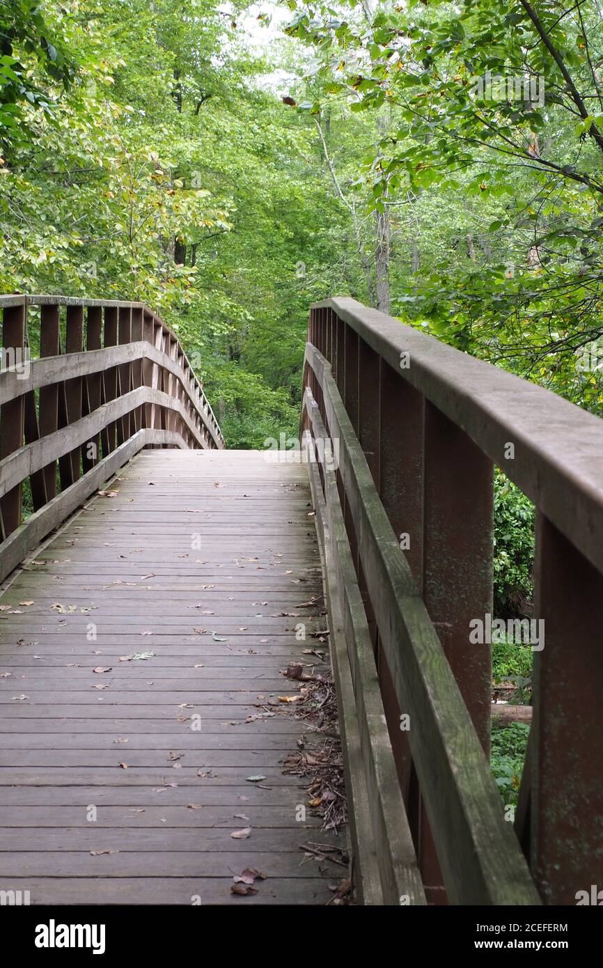
M493 502L492 462L464 431L426 402L423 598L486 755L492 652L487 644L469 642L469 622L492 615ZM415 779L412 773L410 810L412 814L414 802L419 862L426 890L437 902L445 892Z

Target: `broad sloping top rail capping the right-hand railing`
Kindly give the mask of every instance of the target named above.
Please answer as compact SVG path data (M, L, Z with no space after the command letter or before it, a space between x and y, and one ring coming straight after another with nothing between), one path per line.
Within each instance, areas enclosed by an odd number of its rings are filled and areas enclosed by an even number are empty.
M326 299L312 308L333 310L347 322L603 571L602 420L355 299ZM515 445L513 459L505 457L508 443Z

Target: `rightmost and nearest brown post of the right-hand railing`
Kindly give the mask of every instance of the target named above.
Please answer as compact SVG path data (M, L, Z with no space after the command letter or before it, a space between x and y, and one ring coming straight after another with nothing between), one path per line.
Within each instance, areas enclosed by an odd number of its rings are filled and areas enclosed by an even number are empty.
M541 514L534 563L530 868L547 904L600 905L603 576Z

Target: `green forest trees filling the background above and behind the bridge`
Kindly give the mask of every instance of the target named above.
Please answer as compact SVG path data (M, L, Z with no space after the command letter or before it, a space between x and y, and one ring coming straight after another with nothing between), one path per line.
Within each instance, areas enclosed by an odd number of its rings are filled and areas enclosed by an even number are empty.
M230 446L351 295L601 413L598 3L0 2L0 287L136 298Z

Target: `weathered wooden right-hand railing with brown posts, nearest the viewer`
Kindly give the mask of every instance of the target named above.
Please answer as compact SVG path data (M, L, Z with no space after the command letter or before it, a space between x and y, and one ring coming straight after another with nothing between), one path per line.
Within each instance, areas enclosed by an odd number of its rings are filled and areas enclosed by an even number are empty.
M603 422L352 299L313 307L304 388L332 457L310 468L365 900L575 904L603 887ZM469 639L492 615L495 465L537 509L545 631L515 827L491 647Z

